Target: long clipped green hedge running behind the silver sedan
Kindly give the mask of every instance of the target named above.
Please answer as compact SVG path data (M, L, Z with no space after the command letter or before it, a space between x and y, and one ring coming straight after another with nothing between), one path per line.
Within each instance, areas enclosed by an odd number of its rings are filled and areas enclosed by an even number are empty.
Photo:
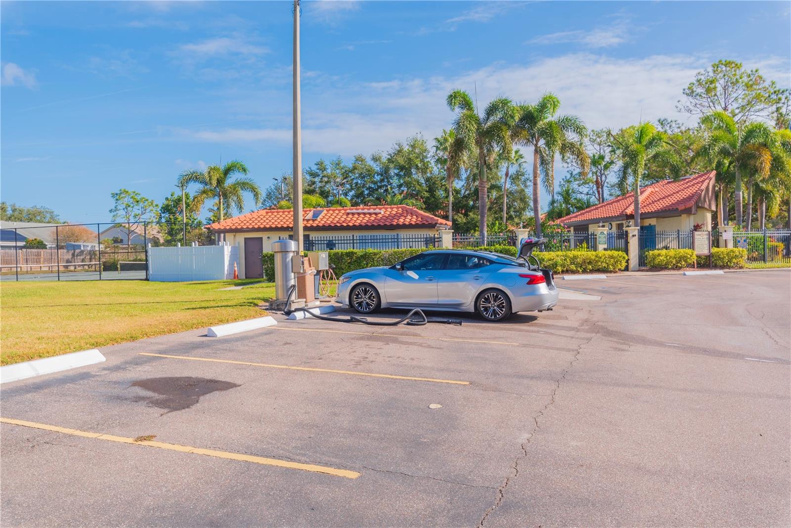
M482 251L517 256L513 245L490 245L477 248ZM410 256L427 249L334 249L329 253L330 264L335 266L335 275L355 269L373 266L392 266ZM626 266L623 251L547 251L536 252L544 268L555 273L618 272ZM263 276L274 280L274 253L263 253Z

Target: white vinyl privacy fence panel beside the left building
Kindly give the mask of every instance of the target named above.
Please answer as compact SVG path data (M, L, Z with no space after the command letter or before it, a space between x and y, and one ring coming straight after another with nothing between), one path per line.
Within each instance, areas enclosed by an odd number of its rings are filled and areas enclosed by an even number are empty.
M233 264L239 266L239 248L227 243L148 250L149 280L157 282L233 279Z

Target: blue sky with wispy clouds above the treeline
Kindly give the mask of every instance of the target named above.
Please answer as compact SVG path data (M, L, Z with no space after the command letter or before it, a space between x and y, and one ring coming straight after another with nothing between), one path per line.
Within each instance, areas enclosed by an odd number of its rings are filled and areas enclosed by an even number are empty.
M108 221L184 169L291 168L290 2L2 2L0 197ZM791 85L789 2L303 2L304 164L386 150L482 104L557 93L589 127L676 112L717 59Z

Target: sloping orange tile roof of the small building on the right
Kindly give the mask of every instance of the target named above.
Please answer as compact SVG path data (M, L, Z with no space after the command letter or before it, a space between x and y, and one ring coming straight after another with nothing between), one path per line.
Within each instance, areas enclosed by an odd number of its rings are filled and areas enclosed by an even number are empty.
M698 203L706 188L712 184L716 171L694 174L680 180L662 180L640 189L640 216L649 216L661 211L683 211ZM618 198L608 199L593 207L577 211L558 222L569 224L600 218L634 218L634 192Z

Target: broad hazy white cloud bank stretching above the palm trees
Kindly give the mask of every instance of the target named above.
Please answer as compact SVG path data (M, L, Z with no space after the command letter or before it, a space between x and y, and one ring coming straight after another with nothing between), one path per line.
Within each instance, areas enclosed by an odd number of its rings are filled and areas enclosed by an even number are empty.
M641 117L688 122L676 111L676 101L694 74L711 62L711 57L691 55L616 59L580 53L525 65L494 63L455 77L382 79L365 85L336 80L303 92L303 148L349 156L386 150L417 132L430 140L452 121L445 106L448 92L461 88L472 93L475 84L482 105L501 95L536 101L552 91L562 101L561 113L576 114L591 128L624 127ZM776 74L771 78L789 78L789 65L779 58L744 60L744 66ZM207 142L274 142L287 148L290 116L263 119L274 123L178 133Z

